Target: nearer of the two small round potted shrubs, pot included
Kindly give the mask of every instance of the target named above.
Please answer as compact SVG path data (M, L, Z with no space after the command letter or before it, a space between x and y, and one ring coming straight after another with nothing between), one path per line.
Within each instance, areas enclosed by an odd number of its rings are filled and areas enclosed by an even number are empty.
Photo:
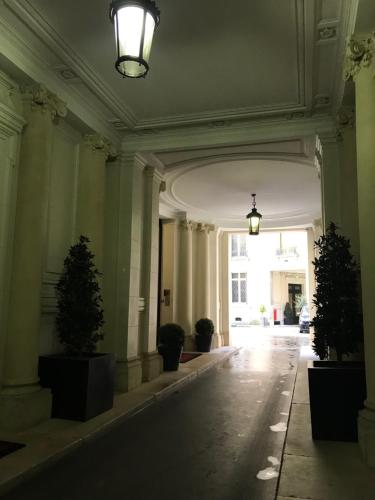
M178 370L185 340L184 329L176 323L166 323L158 329L158 352L163 357L164 371Z

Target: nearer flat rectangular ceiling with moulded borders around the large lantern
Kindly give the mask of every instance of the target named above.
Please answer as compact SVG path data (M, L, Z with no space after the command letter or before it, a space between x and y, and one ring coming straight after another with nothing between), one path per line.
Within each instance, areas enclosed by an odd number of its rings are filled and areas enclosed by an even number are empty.
M118 130L335 109L356 4L157 0L151 69L132 80L114 68L109 0L4 3L48 46L45 65L86 99L95 94Z

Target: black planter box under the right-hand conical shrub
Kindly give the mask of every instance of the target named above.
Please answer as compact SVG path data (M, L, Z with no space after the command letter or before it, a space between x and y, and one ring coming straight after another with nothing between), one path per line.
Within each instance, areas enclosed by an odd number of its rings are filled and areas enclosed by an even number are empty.
M313 439L358 441L357 417L366 399L364 364L309 361Z

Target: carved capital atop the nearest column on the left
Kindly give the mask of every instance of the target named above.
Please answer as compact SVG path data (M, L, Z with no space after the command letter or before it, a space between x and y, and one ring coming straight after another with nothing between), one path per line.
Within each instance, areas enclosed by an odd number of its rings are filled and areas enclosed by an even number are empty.
M51 118L64 118L67 114L66 103L50 92L42 83L21 88L22 100L31 111L41 110L51 113Z

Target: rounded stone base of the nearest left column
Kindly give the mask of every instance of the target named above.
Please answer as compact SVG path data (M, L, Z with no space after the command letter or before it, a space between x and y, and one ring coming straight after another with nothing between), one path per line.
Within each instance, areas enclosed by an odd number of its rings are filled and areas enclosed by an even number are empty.
M20 392L20 388L4 388L0 393L0 429L17 432L51 418L52 393L39 385L35 390Z

